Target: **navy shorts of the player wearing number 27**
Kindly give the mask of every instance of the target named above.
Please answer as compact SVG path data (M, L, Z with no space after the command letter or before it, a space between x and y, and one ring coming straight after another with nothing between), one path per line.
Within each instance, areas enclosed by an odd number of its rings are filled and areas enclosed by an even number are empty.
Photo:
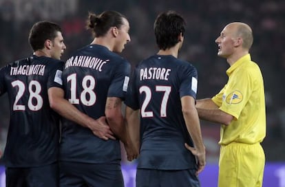
M154 170L138 169L136 187L199 187L196 170Z

